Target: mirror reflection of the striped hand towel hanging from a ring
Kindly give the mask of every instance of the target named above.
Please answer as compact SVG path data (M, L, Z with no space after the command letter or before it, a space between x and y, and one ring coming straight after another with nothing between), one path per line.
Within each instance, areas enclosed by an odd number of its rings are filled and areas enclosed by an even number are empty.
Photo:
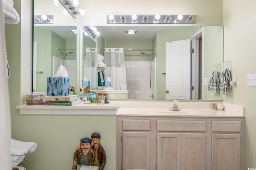
M215 70L215 65L217 65L217 69ZM218 72L219 69L219 62L215 62L212 76L210 78L209 84L208 84L208 91L212 93L218 93L218 89L220 88L220 73Z

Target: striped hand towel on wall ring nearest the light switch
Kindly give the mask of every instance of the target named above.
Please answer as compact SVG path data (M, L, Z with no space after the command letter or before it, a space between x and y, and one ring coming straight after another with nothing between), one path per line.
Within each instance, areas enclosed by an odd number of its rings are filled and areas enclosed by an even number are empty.
M230 70L228 69L228 67L226 69L224 69L224 63L227 62L229 65L229 60L226 59L223 62L222 65L222 72L221 72L221 80L220 80L220 94L225 94L228 93L228 88L232 87L230 85L230 81L231 81L231 76L230 76Z

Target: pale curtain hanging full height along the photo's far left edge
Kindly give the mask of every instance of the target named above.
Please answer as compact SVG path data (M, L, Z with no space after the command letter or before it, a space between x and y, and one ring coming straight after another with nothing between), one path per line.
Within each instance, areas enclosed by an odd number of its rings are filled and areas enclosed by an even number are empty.
M0 160L1 169L11 169L11 155L10 155L10 138L11 138L11 123L10 123L10 103L8 81L6 78L6 49L5 49L5 34L4 34L4 20L3 3L0 0ZM14 9L14 8L13 8ZM4 9L7 10L7 9ZM14 9L15 10L15 9ZM15 10L16 11L16 10Z

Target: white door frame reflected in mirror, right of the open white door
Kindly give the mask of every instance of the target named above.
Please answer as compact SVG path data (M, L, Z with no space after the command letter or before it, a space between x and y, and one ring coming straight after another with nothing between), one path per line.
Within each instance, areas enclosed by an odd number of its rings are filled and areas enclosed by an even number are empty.
M199 38L202 38L202 65L201 68L204 70L204 28L198 30L195 34L191 36L191 48L194 49L194 53L191 53L191 86L194 86L194 90L191 91L191 99L198 100L199 93ZM201 80L201 94L202 100L204 96L204 71L202 72Z

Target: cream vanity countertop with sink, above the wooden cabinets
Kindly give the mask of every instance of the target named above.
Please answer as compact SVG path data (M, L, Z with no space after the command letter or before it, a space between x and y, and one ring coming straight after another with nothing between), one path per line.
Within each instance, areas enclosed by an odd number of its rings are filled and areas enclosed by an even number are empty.
M178 102L181 111L168 111L172 102L114 101L120 104L117 116L156 116L156 117L244 117L244 107L222 103L224 110L212 110L213 102ZM220 102L217 102L220 103Z

